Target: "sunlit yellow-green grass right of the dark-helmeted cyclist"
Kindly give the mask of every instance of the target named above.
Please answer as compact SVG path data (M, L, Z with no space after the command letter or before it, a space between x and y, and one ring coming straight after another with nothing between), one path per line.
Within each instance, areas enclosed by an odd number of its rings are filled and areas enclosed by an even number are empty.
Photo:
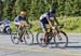
M67 32L81 32L81 17L67 17L59 19L64 24L64 30Z

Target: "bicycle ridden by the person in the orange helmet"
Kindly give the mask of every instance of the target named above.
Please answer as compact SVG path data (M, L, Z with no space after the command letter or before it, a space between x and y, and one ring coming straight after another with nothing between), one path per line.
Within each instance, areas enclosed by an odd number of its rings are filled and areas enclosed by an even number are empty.
M18 39L19 31L21 31L21 33L23 33L23 36L22 36L23 42L25 42L28 45L31 45L33 43L33 34L32 34L32 32L29 29L26 30L26 26L25 25L21 28L21 30L17 28L17 30L15 32L11 33L11 41L14 44L18 44L21 42L21 40Z

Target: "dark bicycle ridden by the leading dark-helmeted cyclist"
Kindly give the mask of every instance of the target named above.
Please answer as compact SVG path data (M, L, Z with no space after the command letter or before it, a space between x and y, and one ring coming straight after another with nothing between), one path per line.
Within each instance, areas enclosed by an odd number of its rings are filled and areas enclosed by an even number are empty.
M39 31L37 33L37 43L41 46L48 46L51 41L55 43L56 47L66 47L68 45L68 36L65 31L63 31L60 28L63 28L64 25L55 25L55 29L49 29L46 33L46 39L42 40L43 32Z

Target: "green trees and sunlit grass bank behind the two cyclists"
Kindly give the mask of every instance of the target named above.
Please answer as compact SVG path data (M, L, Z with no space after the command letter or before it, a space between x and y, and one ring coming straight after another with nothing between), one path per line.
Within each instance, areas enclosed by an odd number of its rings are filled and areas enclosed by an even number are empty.
M0 20L9 18L11 28L16 29L13 20L21 10L27 10L27 17L32 23L32 31L40 31L39 17L51 8L56 9L59 23L66 32L81 32L81 0L0 0ZM60 18L60 16L67 16ZM68 17L69 16L69 17Z

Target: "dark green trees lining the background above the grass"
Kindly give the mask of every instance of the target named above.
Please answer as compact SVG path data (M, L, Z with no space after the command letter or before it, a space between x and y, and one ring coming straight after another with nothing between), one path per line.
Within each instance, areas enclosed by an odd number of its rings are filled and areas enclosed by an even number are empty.
M1 2L2 1L2 2ZM13 20L22 9L26 9L28 17L32 20L49 11L56 8L57 16L81 16L81 0L0 0L0 14L2 17L9 17Z

